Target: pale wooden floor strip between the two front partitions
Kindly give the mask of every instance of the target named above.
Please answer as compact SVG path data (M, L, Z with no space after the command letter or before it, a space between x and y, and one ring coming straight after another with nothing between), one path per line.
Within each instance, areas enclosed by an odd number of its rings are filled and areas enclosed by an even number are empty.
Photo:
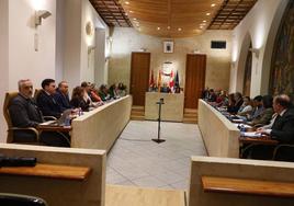
M184 191L106 185L105 206L185 206Z

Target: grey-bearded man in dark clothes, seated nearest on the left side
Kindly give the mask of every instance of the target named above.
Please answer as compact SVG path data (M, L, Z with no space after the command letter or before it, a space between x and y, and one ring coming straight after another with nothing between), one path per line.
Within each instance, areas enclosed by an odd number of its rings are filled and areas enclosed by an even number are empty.
M9 106L9 114L14 127L37 127L44 122L43 115L34 100L33 83L30 79L19 81L19 94L14 98ZM41 142L47 146L69 147L69 139L56 131L43 131L39 135ZM35 134L25 130L13 131L13 140L15 142L34 141Z

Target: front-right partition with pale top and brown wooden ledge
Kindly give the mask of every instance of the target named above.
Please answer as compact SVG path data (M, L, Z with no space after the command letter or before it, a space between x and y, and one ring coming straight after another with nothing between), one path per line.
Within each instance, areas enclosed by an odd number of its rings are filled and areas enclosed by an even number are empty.
M294 164L292 162L215 157L192 157L191 159L189 206L293 206ZM202 184L203 176L222 179L220 183L217 179L210 181L205 186L206 190L219 188L235 192L205 192ZM241 181L240 188L234 183L236 179L237 182ZM260 185L264 185L264 190ZM249 193L237 193L236 191L241 191L241 187L246 187Z

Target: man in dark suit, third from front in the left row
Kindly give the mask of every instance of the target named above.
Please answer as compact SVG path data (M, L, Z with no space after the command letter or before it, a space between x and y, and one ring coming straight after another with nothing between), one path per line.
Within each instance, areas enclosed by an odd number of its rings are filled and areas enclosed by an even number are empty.
M68 83L66 81L59 82L58 88L54 94L54 100L60 106L61 112L71 108L68 96Z

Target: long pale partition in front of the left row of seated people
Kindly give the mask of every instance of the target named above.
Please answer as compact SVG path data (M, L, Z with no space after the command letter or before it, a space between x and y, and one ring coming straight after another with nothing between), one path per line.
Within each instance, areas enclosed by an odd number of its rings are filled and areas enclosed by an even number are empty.
M127 95L72 119L71 147L108 151L127 125L131 110Z

